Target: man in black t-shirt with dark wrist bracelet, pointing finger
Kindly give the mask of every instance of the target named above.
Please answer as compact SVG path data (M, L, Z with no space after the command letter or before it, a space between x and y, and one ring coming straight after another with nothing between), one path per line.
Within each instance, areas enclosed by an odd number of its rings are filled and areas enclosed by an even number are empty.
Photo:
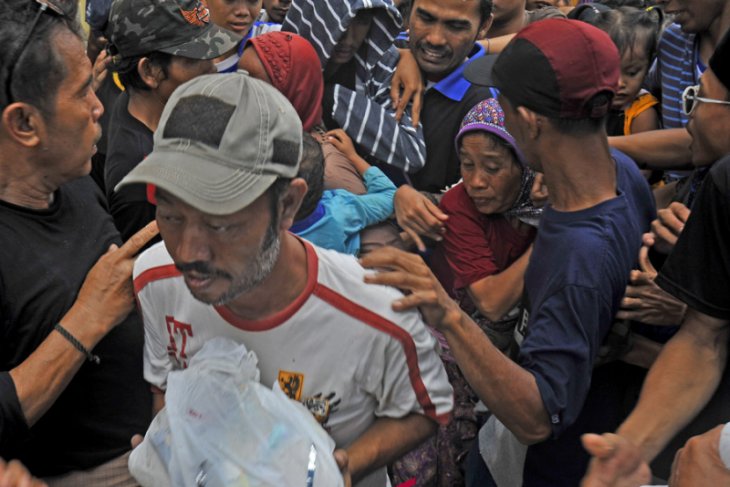
M150 420L134 254L87 176L103 108L75 0L0 9L0 456L51 486L134 485Z

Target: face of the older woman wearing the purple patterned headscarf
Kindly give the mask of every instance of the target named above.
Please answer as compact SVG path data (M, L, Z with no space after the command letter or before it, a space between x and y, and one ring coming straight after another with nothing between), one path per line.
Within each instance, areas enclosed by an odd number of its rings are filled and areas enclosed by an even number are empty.
M512 150L486 132L467 133L459 150L461 177L480 213L509 210L517 200L522 167Z

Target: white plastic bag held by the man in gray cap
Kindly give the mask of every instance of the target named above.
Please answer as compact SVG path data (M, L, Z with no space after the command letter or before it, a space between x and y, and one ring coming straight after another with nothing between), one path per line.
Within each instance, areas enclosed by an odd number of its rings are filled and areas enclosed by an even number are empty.
M170 373L166 409L130 457L141 485L343 485L334 441L278 384L258 383L257 362L243 345L214 338Z

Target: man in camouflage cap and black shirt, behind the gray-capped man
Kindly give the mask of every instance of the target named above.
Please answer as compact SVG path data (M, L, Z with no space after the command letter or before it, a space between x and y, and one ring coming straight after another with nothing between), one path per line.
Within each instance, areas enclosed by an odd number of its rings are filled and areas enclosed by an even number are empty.
M109 19L111 68L126 91L109 122L104 182L109 210L122 238L155 218L143 185L114 187L152 151L152 133L172 92L214 73L213 59L240 36L214 25L200 0L115 0Z

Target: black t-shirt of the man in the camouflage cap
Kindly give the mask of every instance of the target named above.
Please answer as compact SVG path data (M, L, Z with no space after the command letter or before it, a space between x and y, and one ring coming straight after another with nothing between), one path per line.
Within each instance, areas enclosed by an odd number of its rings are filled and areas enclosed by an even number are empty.
M124 241L155 219L155 206L147 200L146 185L132 184L114 190L152 152L152 131L129 114L128 104L129 95L123 93L114 105L104 168L109 211Z

